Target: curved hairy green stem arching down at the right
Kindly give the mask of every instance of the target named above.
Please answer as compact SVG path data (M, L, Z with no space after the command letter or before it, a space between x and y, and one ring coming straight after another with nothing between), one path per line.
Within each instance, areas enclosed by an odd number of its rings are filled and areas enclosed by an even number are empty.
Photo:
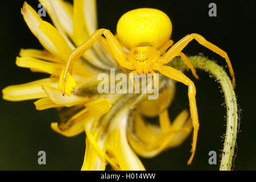
M222 150L222 158L220 171L230 171L232 169L232 163L234 159L234 148L236 146L237 128L238 128L238 114L237 114L237 100L234 88L229 76L224 69L214 63L211 60L202 56L188 57L195 68L203 69L217 78L217 81L221 85L225 96L226 104L226 134L224 148ZM171 61L171 66L176 69L188 69L181 60Z

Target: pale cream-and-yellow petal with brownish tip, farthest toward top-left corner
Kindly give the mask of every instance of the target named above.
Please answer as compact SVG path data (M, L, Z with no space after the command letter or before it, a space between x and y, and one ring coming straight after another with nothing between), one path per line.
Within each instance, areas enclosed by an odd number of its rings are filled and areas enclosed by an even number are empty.
M36 11L32 9L32 7L28 5L27 2L24 2L21 13L25 22L27 23L27 26L30 28L31 32L36 36L36 38L38 38L42 46L53 55L57 55L57 49L52 44L51 40L49 40L47 36L44 35L43 32L39 29L39 24L42 22L42 19L38 13L36 13Z

